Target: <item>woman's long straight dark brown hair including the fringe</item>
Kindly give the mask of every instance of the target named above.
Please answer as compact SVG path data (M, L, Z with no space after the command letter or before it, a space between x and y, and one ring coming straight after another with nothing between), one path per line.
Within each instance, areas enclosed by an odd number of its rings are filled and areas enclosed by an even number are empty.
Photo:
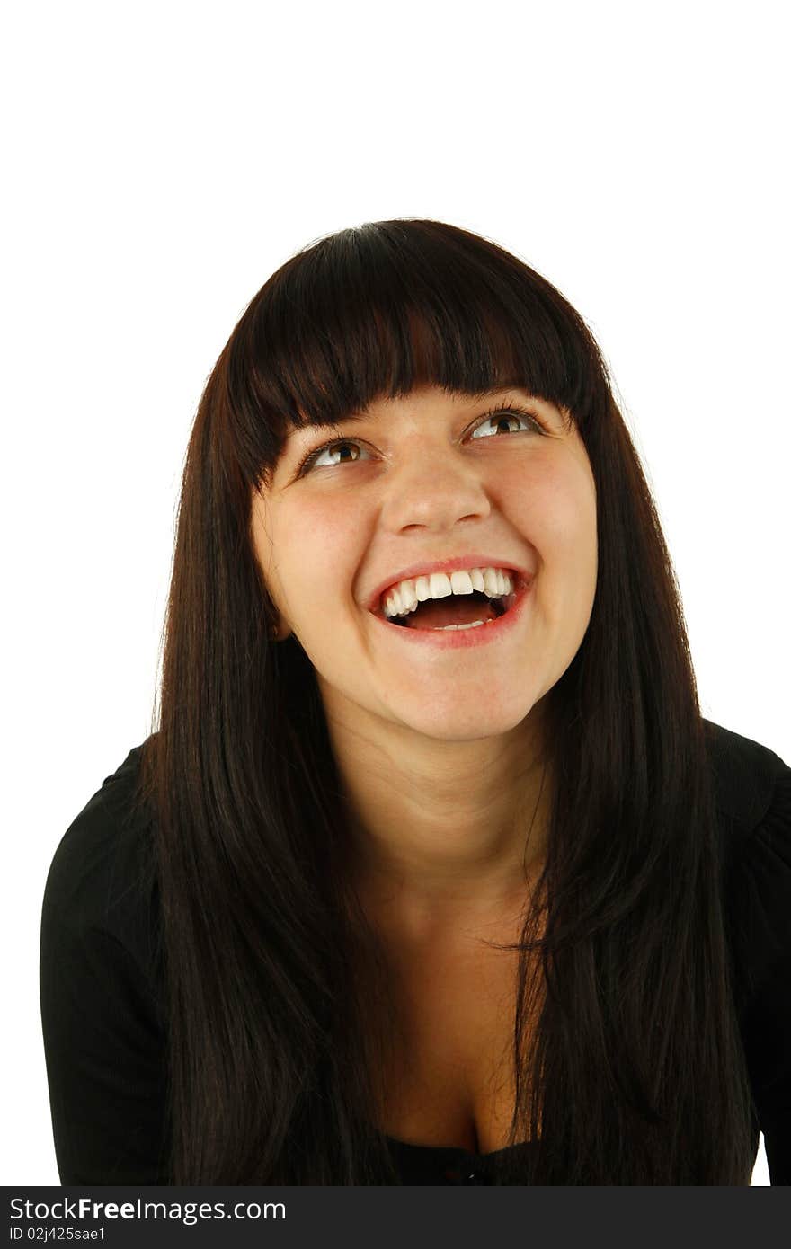
M657 512L580 315L520 259L432 220L341 230L284 264L190 437L140 786L172 1182L399 1183L376 1129L385 964L344 869L315 672L294 634L269 637L251 502L291 427L424 383L520 385L567 410L596 483L595 603L545 696L549 853L512 947L510 1140L540 1148L530 1177L521 1150L505 1155L507 1180L750 1184L707 722Z

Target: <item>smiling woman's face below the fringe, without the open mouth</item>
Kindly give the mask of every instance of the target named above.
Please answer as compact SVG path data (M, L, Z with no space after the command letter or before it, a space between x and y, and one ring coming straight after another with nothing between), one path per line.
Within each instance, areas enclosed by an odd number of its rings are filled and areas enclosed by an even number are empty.
M281 636L299 638L327 716L444 741L519 724L571 663L596 591L585 445L564 412L519 388L474 400L426 386L339 430L292 431L254 497L252 540ZM369 610L405 570L467 556L527 573L509 627L417 634Z

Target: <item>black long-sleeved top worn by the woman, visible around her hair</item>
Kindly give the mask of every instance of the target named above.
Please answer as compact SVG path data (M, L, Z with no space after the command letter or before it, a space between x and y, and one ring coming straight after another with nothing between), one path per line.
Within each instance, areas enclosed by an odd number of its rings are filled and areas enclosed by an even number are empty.
M707 722L729 852L740 1027L772 1184L791 1183L791 768ZM64 834L41 919L41 1019L62 1184L162 1184L164 1020L150 861L131 811L140 747ZM150 826L149 826L150 827ZM496 1153L390 1139L406 1184L487 1184ZM756 1135L757 1150L757 1135ZM540 1148L524 1143L515 1149Z

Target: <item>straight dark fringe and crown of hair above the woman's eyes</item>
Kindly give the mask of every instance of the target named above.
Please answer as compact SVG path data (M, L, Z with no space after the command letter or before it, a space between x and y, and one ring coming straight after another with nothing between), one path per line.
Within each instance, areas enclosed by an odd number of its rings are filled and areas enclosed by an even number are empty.
M604 383L587 327L551 284L431 221L371 222L299 252L255 296L230 348L231 410L256 448L256 478L292 428L332 427L421 386L476 398L519 386L579 422Z

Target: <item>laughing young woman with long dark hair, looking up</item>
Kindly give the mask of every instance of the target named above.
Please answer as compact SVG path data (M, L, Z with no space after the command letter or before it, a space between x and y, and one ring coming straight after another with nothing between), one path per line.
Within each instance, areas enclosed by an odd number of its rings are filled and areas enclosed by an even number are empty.
M50 869L62 1183L750 1184L760 1130L789 1183L790 902L577 312L439 221L295 255L197 411L157 727Z

